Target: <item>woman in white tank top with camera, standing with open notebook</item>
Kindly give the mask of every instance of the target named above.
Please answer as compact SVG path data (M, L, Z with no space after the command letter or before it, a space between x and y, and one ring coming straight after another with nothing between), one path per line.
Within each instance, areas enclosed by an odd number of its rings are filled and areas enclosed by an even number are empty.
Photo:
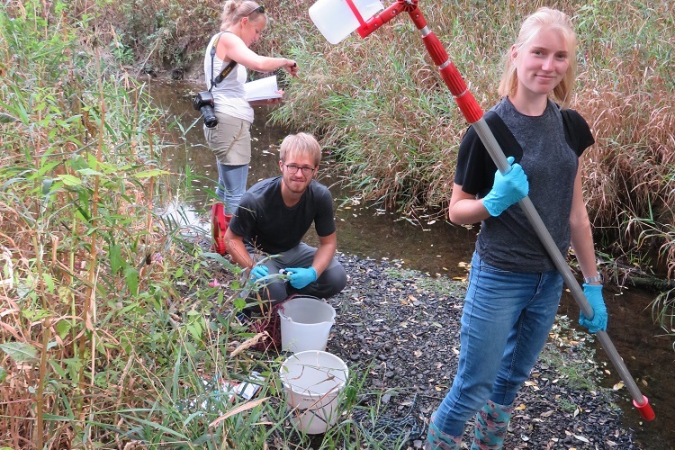
M218 202L211 209L215 249L221 255L226 252L223 235L232 214L237 211L241 195L246 191L248 163L251 160L251 106L281 102L281 98L248 102L244 91L247 68L271 72L284 67L292 76L298 73L293 59L264 57L249 49L260 39L266 25L264 6L252 0L228 0L223 7L220 32L211 37L204 55L206 86L213 95L218 119L213 128L204 125L204 136L218 164L216 194L225 203L224 208ZM283 91L280 93L284 94Z

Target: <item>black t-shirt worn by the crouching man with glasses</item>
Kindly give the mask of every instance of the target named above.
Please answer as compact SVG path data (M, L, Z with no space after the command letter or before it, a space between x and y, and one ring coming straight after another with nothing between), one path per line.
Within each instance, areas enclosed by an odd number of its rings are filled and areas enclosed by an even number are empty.
M268 178L251 186L241 197L229 228L247 245L275 255L300 244L314 222L320 237L335 232L333 197L329 188L312 180L299 202L284 204L282 177Z

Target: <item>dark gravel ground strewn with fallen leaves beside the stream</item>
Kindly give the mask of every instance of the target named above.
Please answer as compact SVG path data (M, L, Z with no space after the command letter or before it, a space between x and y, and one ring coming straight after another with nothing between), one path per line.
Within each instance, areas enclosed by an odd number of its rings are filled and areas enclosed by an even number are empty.
M419 448L456 372L464 286L396 261L339 257L349 281L329 300L338 316L327 351L364 380L362 402L379 414L376 426L365 428L381 433L383 448L401 431L412 437L402 448ZM614 393L593 381L600 368L585 346L589 338L564 318L556 322L518 396L505 448L641 448L622 426ZM472 429L464 432L465 446Z

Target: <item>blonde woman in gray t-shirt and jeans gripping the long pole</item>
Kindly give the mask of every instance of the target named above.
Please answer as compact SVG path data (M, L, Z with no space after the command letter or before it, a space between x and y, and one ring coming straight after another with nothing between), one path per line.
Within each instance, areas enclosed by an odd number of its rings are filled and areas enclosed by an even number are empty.
M563 277L514 205L526 195L563 255L572 244L594 312L593 320L581 314L581 325L591 333L607 329L581 191L580 158L594 139L581 115L565 109L572 97L575 49L567 15L541 8L527 17L505 58L500 103L489 112L518 142L504 148L512 169L495 173L472 128L460 145L449 218L482 223L462 314L459 366L431 417L427 448L460 448L464 423L477 412L472 448L501 448L518 389L553 326Z

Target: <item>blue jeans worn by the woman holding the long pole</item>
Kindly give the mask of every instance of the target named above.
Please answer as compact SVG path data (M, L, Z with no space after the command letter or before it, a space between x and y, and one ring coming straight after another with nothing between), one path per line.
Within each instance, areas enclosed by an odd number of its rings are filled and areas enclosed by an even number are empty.
M563 277L524 274L472 258L460 333L459 367L434 424L462 436L464 423L490 399L510 405L527 380L558 311Z

